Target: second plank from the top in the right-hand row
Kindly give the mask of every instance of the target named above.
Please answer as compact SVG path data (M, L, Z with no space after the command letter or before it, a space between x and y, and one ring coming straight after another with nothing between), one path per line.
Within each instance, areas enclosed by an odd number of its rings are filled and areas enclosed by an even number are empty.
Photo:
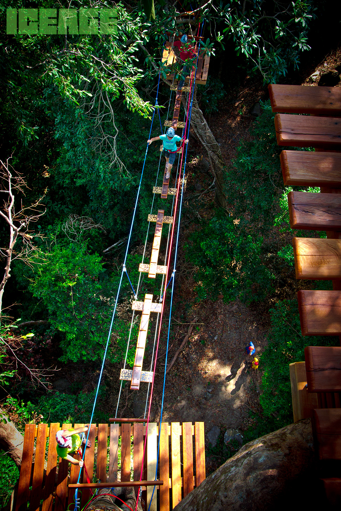
M341 119L277 113L275 116L279 146L340 148Z

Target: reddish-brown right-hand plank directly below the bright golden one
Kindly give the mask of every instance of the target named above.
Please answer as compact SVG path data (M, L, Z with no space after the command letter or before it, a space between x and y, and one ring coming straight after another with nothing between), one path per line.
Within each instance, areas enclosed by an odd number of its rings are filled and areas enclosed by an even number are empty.
M341 335L341 291L298 292L302 335Z

